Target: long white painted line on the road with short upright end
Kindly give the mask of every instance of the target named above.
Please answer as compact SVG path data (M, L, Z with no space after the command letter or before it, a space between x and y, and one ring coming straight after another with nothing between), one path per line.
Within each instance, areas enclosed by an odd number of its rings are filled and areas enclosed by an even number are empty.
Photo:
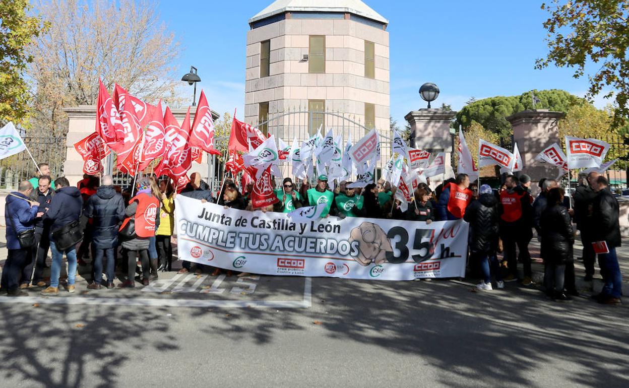
M312 307L312 279L304 280L304 298L301 301L208 301L203 299L148 299L133 297L48 297L48 296L0 296L0 303L66 304L88 306L154 306L199 308L274 308L308 309Z

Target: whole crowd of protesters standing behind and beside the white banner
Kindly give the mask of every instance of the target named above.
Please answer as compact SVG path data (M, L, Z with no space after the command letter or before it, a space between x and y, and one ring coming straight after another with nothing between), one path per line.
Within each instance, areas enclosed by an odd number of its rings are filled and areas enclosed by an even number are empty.
M545 267L543 289L555 301L579 294L573 252L576 224L584 247L585 280L593 279L597 255L594 247L599 247L604 287L597 301L621 302L622 278L616 256L621 242L618 201L608 189L606 178L596 172L579 175L572 199L565 197L554 179L540 180L540 193L533 198L532 182L526 174L506 175L498 189L486 184L477 187L467 175L459 174L434 191L428 184L419 184L408 206L396 199L396 189L389 182L357 189L352 182L343 181L331 190L326 175L318 176L314 187L307 180L297 184L286 178L282 187L274 187L276 204L254 208L250 201L252 185L241 191L231 179L226 179L214 196L201 175L192 173L190 182L177 194L168 177L139 177L135 186L122 188L114 186L109 175L86 175L77 187L72 187L65 177L53 180L47 164L38 167L37 177L21 182L18 191L6 198L8 258L0 293L8 296L25 296L27 289L35 287L48 296L57 295L60 286L75 292L77 263L86 265L87 256L92 258L91 282L87 285L90 290L111 289L116 278L121 279L118 287L122 288L148 285L159 277L159 272L173 270L174 199L181 195L251 211L289 213L303 206L325 204L322 217L426 223L464 219L470 224L470 267L481 274L477 287L485 291L493 290L494 285L502 289L505 282L519 281L524 286L533 283L528 247L535 230ZM43 273L48 250L52 263L47 282ZM518 262L523 265L522 276ZM179 273L191 271L212 275L222 272L183 261Z

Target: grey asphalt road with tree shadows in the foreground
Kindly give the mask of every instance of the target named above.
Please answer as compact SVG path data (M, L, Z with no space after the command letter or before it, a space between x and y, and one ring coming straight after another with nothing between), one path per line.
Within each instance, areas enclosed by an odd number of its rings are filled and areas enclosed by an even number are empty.
M75 294L0 297L0 387L628 387L629 299L580 285L552 302L515 283L79 277Z

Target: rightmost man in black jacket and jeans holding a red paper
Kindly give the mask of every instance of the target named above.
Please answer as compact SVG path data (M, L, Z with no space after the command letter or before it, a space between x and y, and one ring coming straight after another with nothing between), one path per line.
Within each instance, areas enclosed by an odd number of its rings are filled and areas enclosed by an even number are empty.
M604 241L608 253L598 253L598 263L603 275L603 290L596 299L602 304L620 304L623 278L618 265L616 247L620 247L620 216L618 201L608 190L609 182L603 176L596 178L596 197L592 206L593 242Z

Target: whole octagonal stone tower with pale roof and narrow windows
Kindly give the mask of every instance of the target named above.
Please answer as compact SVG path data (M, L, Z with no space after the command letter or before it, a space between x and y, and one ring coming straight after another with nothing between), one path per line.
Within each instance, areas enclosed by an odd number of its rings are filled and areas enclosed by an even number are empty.
M277 0L249 20L245 121L304 140L323 125L347 139L352 119L389 133L387 19L360 0ZM324 134L325 135L325 134ZM382 142L382 159L389 153ZM388 145L387 145L388 147Z

